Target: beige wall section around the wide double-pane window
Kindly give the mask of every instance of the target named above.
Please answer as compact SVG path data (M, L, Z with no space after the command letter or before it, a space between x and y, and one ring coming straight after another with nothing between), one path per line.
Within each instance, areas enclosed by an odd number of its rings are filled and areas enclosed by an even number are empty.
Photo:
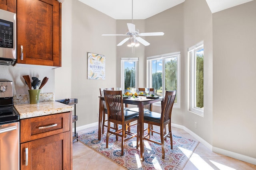
M162 55L166 53L181 53L181 68L184 68L183 53L184 43L184 5L180 4L170 8L160 14L146 19L146 32L164 32L163 36L149 36L145 39L150 42L150 45L145 47L145 60L146 57L154 55ZM144 68L146 70L146 67ZM184 72L181 70L181 75ZM146 82L146 80L145 80ZM181 78L181 84L184 84L184 76ZM184 86L181 86L181 89ZM182 89L183 90L183 89ZM181 95L184 92L181 91ZM172 111L172 123L183 125L183 108L185 103L184 98L181 99L181 108L174 108ZM153 110L161 112L161 107L153 106Z

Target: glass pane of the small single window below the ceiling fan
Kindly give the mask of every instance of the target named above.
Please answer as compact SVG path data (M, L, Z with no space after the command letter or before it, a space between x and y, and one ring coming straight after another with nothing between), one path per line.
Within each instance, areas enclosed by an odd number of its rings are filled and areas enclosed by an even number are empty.
M124 62L124 89L135 88L135 61Z

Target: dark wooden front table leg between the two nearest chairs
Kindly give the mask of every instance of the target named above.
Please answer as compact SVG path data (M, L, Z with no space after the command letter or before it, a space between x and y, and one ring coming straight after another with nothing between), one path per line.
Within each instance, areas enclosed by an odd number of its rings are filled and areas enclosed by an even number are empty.
M144 161L144 110L143 103L140 102L139 105L139 133L140 133L140 160Z

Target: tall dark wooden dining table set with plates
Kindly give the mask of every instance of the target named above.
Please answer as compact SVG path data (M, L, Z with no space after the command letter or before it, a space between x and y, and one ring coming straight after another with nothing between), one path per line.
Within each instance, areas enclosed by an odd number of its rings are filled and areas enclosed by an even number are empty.
M104 104L103 101L105 100L103 96L99 96L100 98L100 104L99 104L99 130L98 130L98 140L101 140L101 127L102 127L102 115L104 113ZM159 98L146 98L145 96L138 96L138 98L123 98L124 104L126 106L128 104L136 105L139 108L139 119L138 119L138 125L139 125L139 138L140 138L140 160L144 161L144 105L146 104L152 104L155 102L160 102L161 105L163 104L164 97L160 96Z

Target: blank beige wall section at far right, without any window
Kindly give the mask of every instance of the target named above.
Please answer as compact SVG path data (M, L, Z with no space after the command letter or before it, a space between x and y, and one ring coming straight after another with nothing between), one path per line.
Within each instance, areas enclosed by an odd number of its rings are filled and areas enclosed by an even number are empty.
M256 1L213 14L213 146L256 158Z

